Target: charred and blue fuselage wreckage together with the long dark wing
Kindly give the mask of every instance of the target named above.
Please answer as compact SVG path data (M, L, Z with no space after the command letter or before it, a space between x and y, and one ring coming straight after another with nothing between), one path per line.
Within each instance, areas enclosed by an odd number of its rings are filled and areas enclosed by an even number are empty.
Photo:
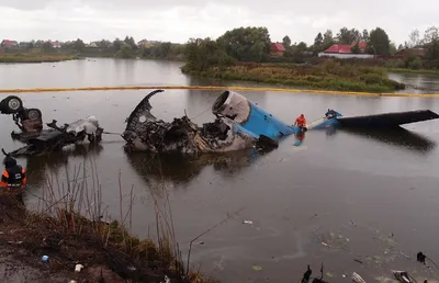
M214 102L212 113L216 120L212 123L199 127L188 116L175 118L171 123L164 122L150 113L153 106L149 103L153 95L162 91L156 90L147 94L131 113L122 135L126 140L126 149L196 155L251 147L275 148L284 137L303 131L279 121L241 94L228 90ZM344 117L340 113L328 110L322 118L308 124L305 131L328 127L394 128L438 117L431 111Z

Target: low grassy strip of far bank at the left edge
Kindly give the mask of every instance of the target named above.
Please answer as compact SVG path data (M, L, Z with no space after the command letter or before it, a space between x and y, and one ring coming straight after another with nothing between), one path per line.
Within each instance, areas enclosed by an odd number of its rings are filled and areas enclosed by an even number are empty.
M0 63L55 63L77 58L76 55L70 54L0 53Z

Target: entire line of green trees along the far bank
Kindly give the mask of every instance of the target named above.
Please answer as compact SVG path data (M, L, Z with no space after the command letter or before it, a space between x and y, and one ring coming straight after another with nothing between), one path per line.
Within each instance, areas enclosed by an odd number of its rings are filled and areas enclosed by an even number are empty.
M365 50L361 50L358 43L367 43ZM133 36L125 36L124 39L116 38L111 42L101 39L95 42L97 47L87 46L82 39L64 43L59 48L64 53L76 53L86 56L111 56L119 58L178 58L185 59L187 70L202 71L212 66L223 67L235 64L236 61L264 63L270 60L270 45L272 41L267 27L248 26L238 27L225 32L216 39L190 38L185 44L175 44L170 42L157 43L153 45L136 44ZM413 31L408 41L401 44L397 48L391 42L387 33L376 27L371 31L342 27L336 34L331 30L318 33L312 45L305 42L292 43L286 35L282 39L285 52L282 58L292 63L303 63L304 57L316 56L326 50L333 44L357 43L351 46L353 53L364 52L374 55L393 55L397 49L404 47L424 47L426 60L439 60L439 27L431 26L420 35L418 30ZM38 47L44 53L59 52L47 42L37 41L29 43L27 48ZM439 64L432 65L439 68Z

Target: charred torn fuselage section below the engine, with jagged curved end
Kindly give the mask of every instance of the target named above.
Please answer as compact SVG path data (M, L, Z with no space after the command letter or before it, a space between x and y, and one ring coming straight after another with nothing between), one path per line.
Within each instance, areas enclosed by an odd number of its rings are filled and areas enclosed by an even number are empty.
M122 137L128 150L151 152L181 152L198 155L202 152L227 152L251 147L277 147L269 137L243 127L228 116L215 113L217 118L201 127L188 116L172 122L157 120L151 113L149 99L162 90L146 95L127 118Z

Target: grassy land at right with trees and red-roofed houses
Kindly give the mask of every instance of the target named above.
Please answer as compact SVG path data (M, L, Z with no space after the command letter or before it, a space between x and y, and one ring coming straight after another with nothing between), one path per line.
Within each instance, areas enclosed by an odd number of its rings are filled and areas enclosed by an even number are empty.
M307 46L292 44L289 36L272 43L266 27L239 27L216 39L191 38L182 70L192 76L311 89L395 91L405 86L389 79L389 70L437 72L439 68L438 27L427 30L423 39L419 35L410 38L413 43L396 48L383 29L360 33L344 27L336 36L331 31L317 34ZM425 56L409 54L418 49ZM398 50L406 54L395 56Z

